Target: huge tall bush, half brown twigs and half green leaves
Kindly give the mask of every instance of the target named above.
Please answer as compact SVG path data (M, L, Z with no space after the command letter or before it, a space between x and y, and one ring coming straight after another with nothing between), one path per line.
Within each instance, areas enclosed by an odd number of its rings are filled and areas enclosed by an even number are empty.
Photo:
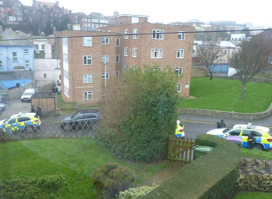
M111 78L98 141L116 156L137 162L165 154L167 136L176 128L179 78L170 67L154 71L151 66Z

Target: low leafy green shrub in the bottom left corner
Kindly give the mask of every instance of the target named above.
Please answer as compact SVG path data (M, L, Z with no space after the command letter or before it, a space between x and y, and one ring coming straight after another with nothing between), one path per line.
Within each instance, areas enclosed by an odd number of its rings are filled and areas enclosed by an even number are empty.
M60 189L70 190L63 175L44 177L19 176L0 179L0 198L5 199L58 199Z

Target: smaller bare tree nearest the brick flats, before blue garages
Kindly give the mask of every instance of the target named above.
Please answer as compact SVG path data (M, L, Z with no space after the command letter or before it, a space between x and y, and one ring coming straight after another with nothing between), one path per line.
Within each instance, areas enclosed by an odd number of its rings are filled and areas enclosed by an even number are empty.
M196 57L200 59L202 66L205 66L211 77L213 78L213 69L216 63L216 60L220 60L223 56L221 54L221 48L218 48L215 45L198 45L196 46Z

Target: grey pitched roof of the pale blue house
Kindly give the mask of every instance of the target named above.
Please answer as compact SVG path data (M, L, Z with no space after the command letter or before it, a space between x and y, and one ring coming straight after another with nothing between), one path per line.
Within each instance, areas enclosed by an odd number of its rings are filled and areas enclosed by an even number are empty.
M16 34L13 30L7 29L0 34L2 40L4 39L22 39L23 37L19 34ZM0 41L0 45L35 45L29 40L9 40L9 41Z

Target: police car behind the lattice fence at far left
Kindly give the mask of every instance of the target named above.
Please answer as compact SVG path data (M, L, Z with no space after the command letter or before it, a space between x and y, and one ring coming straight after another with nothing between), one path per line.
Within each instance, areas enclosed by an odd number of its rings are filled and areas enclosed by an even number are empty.
M5 132L25 130L31 132L34 127L41 124L40 117L36 113L18 113L8 119L0 121L0 135Z

